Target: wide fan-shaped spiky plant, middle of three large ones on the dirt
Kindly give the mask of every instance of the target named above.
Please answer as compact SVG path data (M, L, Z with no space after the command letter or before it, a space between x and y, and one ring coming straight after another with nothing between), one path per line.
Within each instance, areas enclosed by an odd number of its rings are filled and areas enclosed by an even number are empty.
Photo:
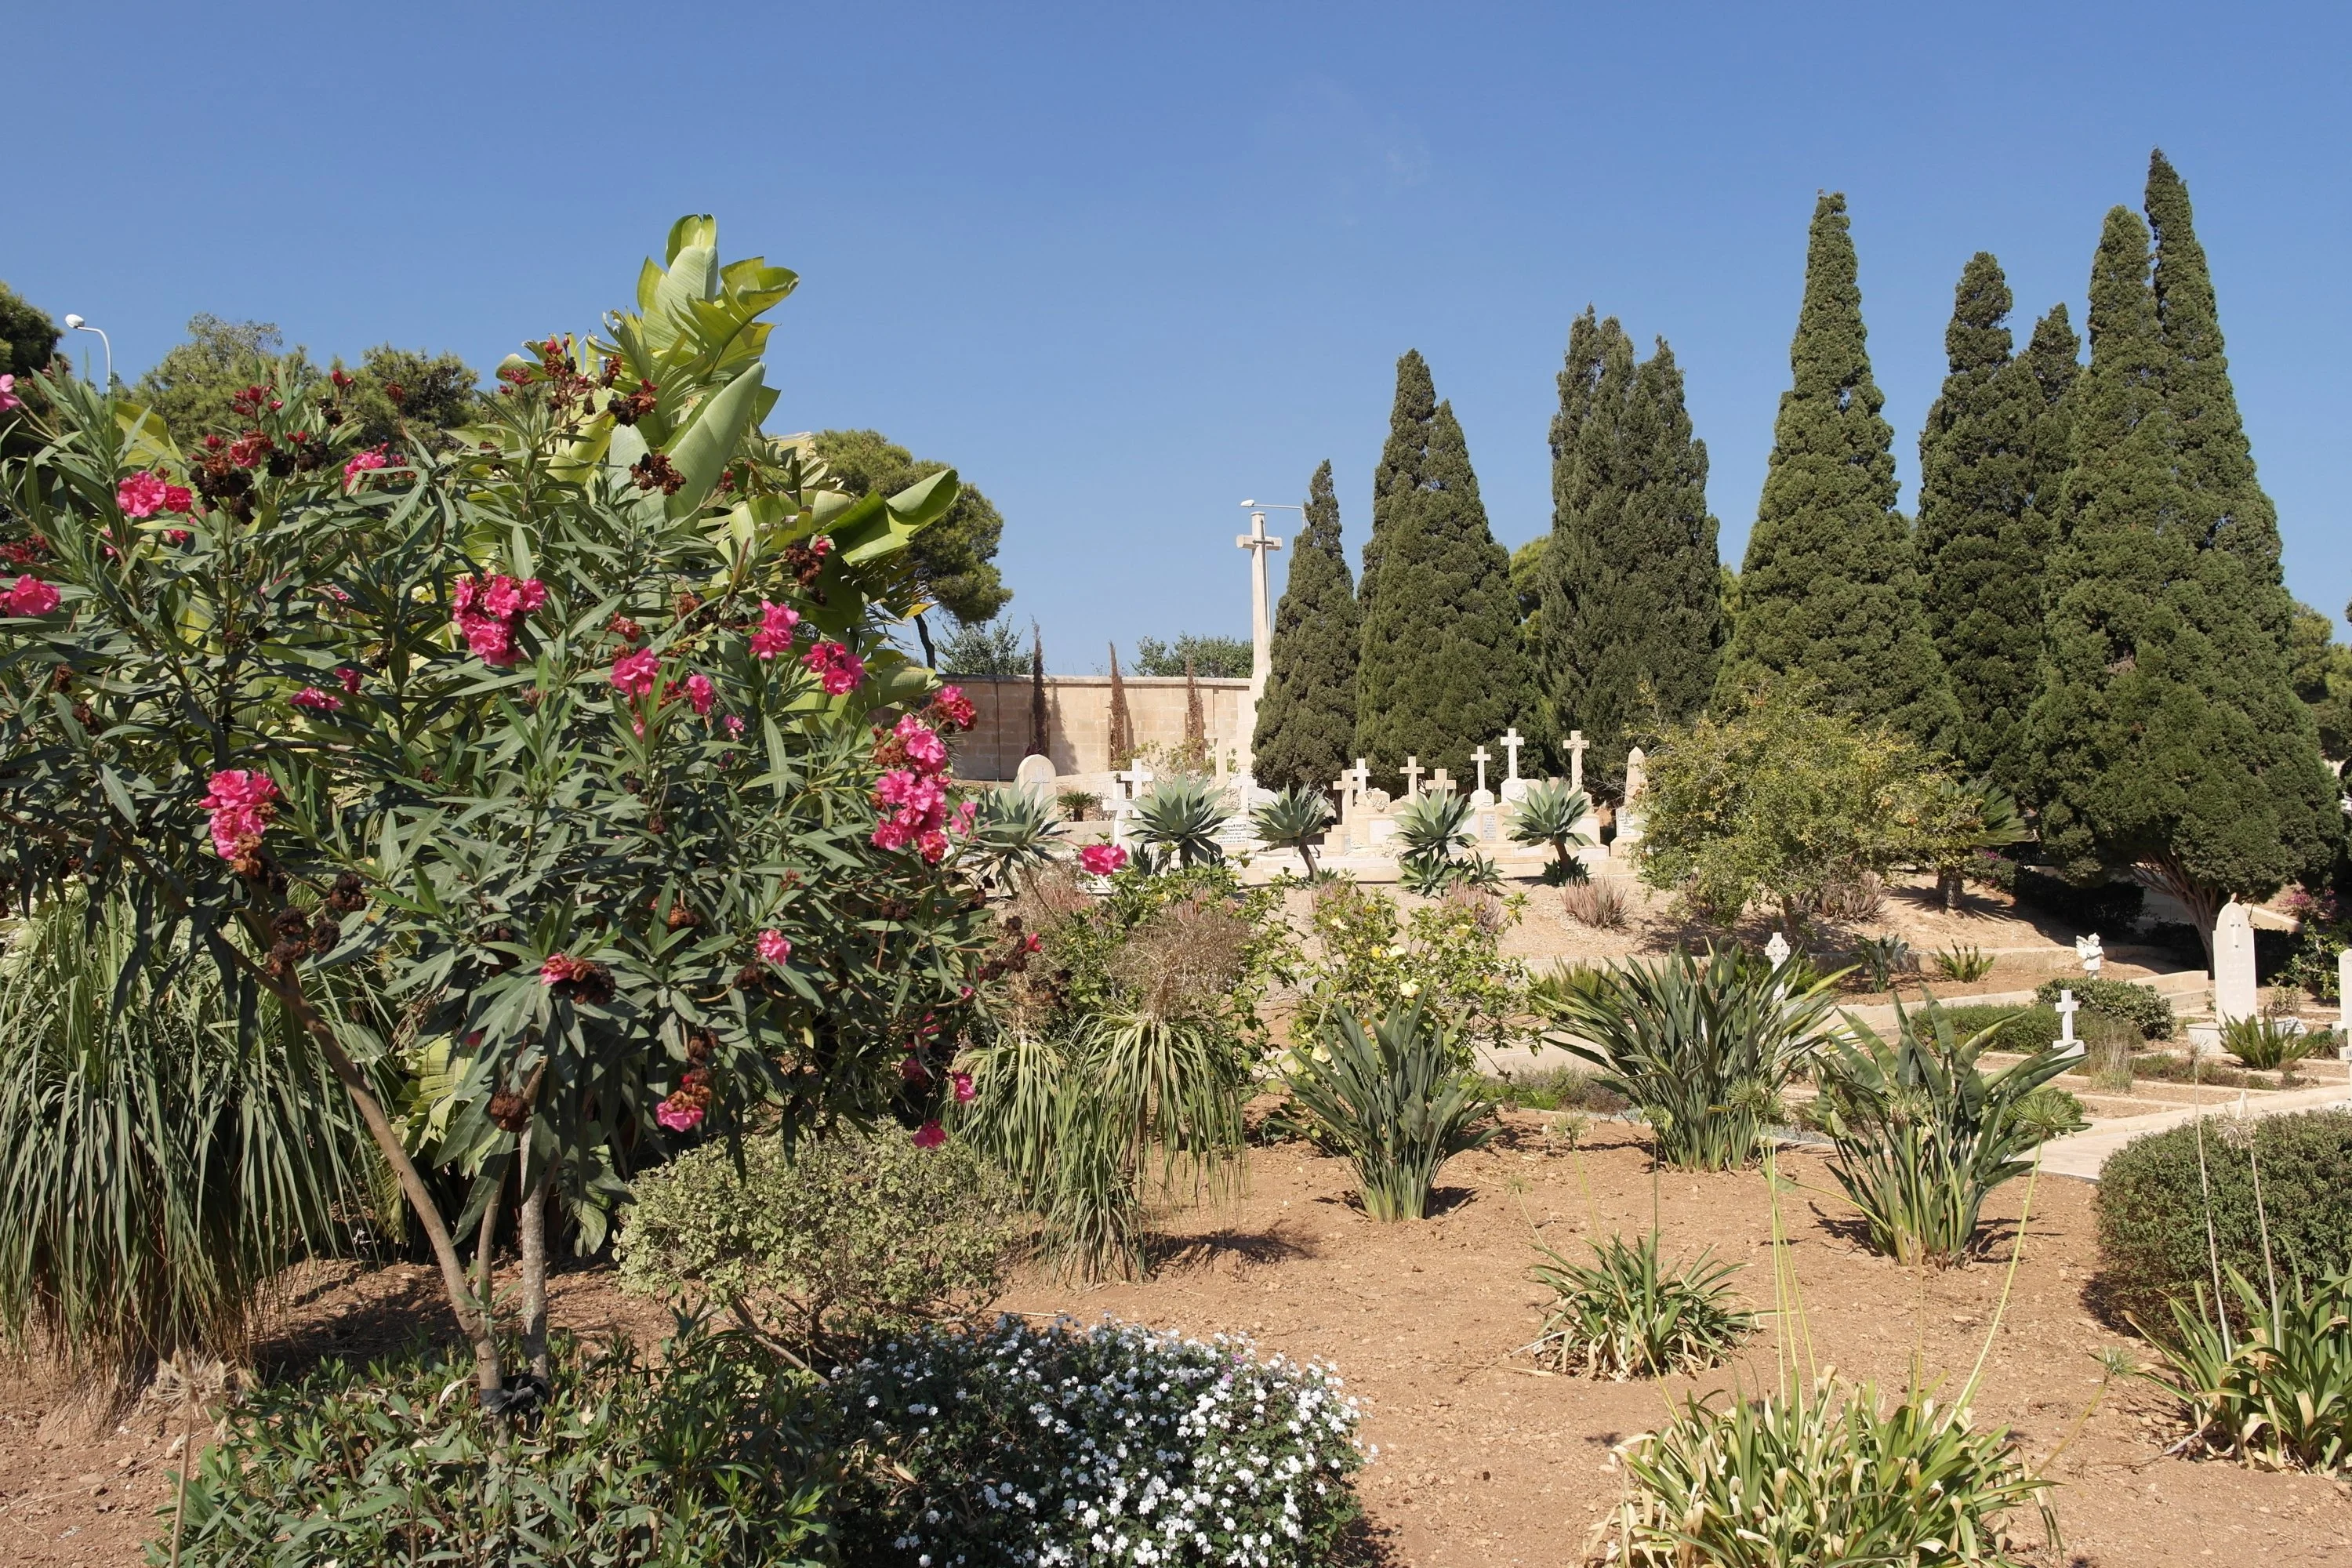
M1780 1091L1820 1044L1832 978L1738 952L1625 964L1550 1006L1550 1039L1602 1070L1656 1131L1658 1161L1731 1171L1755 1161Z

